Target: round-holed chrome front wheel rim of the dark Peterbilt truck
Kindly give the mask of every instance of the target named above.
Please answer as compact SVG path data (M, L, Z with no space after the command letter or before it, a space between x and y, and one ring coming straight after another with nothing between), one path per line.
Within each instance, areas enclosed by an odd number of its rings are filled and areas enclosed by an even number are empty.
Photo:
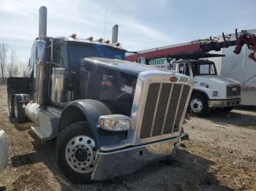
M69 166L78 173L89 173L94 170L96 148L94 139L89 136L75 136L65 149Z

